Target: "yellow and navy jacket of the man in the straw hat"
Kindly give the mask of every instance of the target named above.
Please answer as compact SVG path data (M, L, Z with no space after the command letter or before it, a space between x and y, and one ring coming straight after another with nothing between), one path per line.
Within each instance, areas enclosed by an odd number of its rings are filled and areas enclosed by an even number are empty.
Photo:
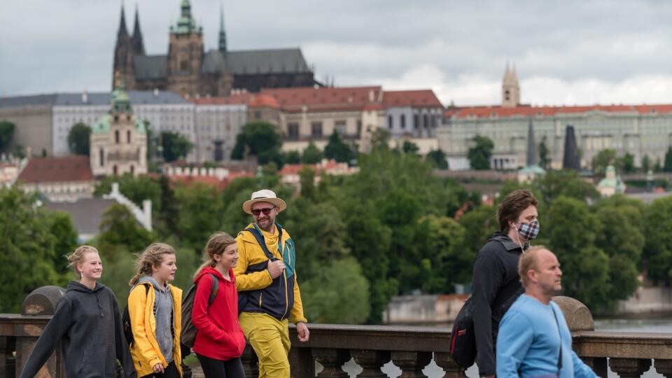
M251 223L248 228L254 228ZM285 258L279 252L279 230L282 237L280 246ZM276 225L276 233L270 234L260 230L266 241L266 246L274 257L284 260L287 269L276 279L271 279L268 271L269 258L258 244L254 235L248 231L239 232L236 237L238 244L238 264L234 268L236 288L239 292L238 311L265 313L282 320L289 318L292 323L302 321L307 323L303 314L301 292L294 269L294 243L289 233ZM289 248L286 250L286 248ZM288 274L293 272L293 274Z

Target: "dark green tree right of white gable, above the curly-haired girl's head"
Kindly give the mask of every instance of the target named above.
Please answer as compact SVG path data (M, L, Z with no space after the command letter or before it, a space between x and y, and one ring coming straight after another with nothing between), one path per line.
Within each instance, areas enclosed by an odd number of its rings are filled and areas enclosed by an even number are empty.
M123 204L112 204L104 211L100 231L97 245L111 260L123 253L139 253L154 239Z

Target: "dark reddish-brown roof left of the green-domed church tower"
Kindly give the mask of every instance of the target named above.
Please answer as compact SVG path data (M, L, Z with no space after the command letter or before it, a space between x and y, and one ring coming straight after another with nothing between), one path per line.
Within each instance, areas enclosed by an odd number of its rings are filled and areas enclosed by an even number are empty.
M22 183L59 183L92 181L88 156L32 158L19 174Z

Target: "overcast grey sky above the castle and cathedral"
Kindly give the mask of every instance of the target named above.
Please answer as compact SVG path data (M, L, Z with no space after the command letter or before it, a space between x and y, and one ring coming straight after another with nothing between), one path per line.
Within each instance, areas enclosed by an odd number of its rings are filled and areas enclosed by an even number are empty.
M138 0L148 54L166 54L181 0ZM109 90L118 0L0 0L0 96ZM672 103L672 2L192 0L207 49L302 48L335 84L432 88L498 104L506 62L535 105ZM132 31L136 2L125 1Z

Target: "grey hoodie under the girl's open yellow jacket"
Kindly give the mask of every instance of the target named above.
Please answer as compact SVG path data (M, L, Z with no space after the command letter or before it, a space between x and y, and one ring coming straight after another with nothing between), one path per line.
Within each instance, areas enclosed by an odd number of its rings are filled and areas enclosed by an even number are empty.
M165 287L159 286L151 276L143 276L138 284L144 282L151 283L154 287L154 317L156 318L156 341L167 363L173 360L173 330L175 318L173 316L173 295L170 292L170 285L166 283Z

